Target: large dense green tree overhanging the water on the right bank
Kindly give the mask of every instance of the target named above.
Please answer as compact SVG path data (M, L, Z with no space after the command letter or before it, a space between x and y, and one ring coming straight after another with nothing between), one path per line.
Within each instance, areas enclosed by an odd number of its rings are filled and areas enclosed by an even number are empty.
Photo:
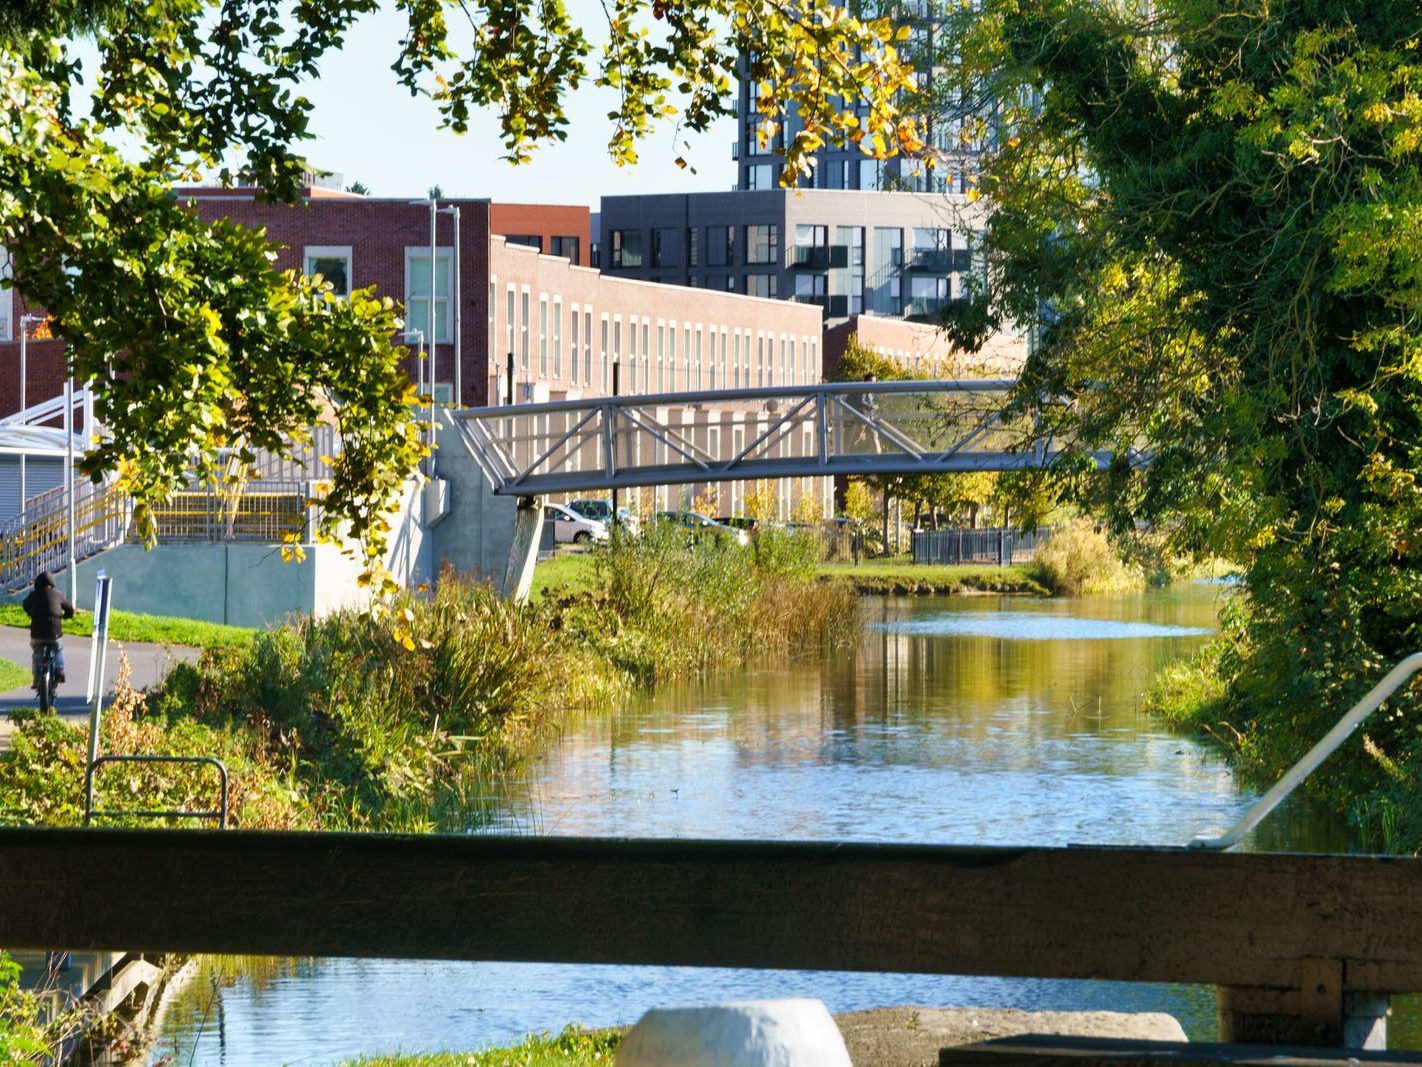
M1021 407L1152 457L1111 472L1118 528L1244 563L1216 710L1263 777L1422 647L1419 31L1398 0L987 0L956 30L1005 135L954 333L1037 323ZM1415 846L1395 707L1328 792Z

